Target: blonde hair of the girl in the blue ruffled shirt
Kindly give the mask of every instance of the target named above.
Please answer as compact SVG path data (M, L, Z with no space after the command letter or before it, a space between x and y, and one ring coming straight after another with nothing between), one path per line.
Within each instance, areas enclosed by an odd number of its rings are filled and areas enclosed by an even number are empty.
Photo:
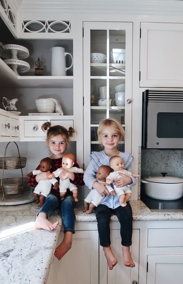
M119 135L120 137L125 137L125 130L123 129L121 123L115 119L115 118L107 118L105 120L102 120L99 124L97 135L98 138L102 134L102 130L106 126L111 126Z

